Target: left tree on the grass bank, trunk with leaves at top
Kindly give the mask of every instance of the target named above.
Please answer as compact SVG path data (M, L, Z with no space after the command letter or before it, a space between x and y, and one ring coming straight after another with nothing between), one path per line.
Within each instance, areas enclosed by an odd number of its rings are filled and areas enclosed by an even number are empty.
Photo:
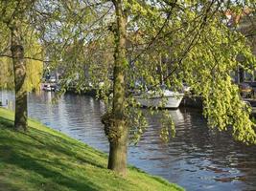
M27 130L28 126L28 103L27 103L27 87L26 87L26 61L24 57L25 43L24 36L28 26L27 14L31 11L35 1L1 1L0 12L2 25L5 24L4 30L9 30L11 36L10 51L12 55L4 54L12 57L13 78L15 90L15 119L14 128L16 130ZM3 29L2 29L3 30ZM28 32L28 31L27 31Z

